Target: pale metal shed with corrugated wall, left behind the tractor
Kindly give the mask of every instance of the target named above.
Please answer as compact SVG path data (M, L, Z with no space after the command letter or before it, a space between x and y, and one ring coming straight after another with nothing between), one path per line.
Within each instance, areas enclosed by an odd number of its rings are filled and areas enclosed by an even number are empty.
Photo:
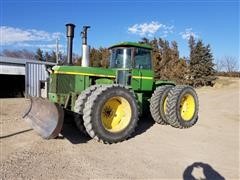
M13 76L25 76L25 97L46 97L49 77L47 68L54 65L56 63L0 56L0 79L3 76L9 80Z

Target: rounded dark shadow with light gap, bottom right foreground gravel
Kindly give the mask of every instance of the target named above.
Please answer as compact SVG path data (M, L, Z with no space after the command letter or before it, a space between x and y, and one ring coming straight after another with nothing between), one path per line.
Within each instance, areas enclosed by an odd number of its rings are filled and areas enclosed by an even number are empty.
M209 164L202 162L195 162L188 166L183 172L184 180L225 180L225 178L214 170Z

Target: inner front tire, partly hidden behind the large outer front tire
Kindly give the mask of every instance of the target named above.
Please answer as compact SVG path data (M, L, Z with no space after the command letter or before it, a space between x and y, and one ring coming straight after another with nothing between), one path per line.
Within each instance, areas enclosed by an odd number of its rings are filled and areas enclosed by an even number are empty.
M83 109L88 97L101 85L92 85L85 89L77 98L74 106L74 121L77 128L84 134L88 134L83 124Z

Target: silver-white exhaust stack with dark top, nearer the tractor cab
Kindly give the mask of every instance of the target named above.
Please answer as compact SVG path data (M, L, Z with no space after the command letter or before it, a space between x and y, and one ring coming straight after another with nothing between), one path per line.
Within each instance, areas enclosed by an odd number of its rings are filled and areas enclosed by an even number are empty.
M87 45L87 30L90 26L83 26L83 31L81 32L82 35L82 67L89 66L89 53L90 53L90 46Z

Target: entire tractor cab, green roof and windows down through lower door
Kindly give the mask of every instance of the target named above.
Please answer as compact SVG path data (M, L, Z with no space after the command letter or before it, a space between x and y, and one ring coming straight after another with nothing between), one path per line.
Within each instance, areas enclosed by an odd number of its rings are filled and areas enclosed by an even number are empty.
M111 46L109 66L116 69L116 82L125 86L139 84L141 88L142 75L153 74L151 50L147 44L123 42ZM135 78L135 79L134 79ZM137 80L136 80L137 78Z

